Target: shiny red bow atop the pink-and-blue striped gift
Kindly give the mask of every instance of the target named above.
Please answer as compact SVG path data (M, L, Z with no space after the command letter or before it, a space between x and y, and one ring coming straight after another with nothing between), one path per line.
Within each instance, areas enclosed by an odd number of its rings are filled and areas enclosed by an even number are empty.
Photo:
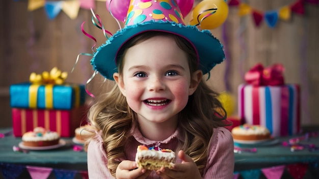
M245 74L245 81L255 86L283 85L283 71L284 67L281 64L274 64L268 68L257 64Z

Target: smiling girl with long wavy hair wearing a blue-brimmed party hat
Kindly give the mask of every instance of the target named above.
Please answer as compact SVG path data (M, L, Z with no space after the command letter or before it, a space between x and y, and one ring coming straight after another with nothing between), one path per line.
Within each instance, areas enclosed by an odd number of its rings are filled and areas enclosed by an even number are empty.
M149 9L161 8L161 1L151 2ZM169 20L128 23L94 54L94 69L116 85L89 112L95 131L85 144L90 178L233 177L226 112L203 79L223 61L222 45L207 31ZM176 163L137 168L138 145L176 151Z

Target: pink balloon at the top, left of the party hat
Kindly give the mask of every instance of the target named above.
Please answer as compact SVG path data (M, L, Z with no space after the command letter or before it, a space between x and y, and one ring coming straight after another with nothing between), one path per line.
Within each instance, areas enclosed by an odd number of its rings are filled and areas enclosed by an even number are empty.
M107 10L117 19L124 22L130 0L107 0Z

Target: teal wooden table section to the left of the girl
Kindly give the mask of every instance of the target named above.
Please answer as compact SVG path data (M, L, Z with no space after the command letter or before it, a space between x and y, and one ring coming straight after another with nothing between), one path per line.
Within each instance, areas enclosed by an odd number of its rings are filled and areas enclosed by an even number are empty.
M6 133L12 129L0 129L0 133ZM74 170L87 170L87 153L73 151L72 138L62 138L66 145L45 151L32 151L28 153L15 152L13 146L18 146L21 137L13 135L0 138L0 163L11 163L21 165L35 165L58 167Z

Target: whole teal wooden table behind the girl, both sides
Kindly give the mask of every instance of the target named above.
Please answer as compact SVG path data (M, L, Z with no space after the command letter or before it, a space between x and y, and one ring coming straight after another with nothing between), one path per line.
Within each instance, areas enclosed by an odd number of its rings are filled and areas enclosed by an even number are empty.
M0 129L0 133L6 133L12 129ZM276 142L270 144L238 144L241 148L256 148L255 153L242 152L235 153L235 172L248 169L258 169L264 167L287 165L294 163L319 163L319 150L310 152L305 148L301 151L291 152L290 147L283 146L282 142L291 138L303 137L296 135L276 138ZM72 138L63 138L66 145L53 150L29 151L28 153L14 152L13 146L18 146L21 137L13 135L0 138L0 163L14 165L33 165L43 167L53 167L69 170L87 170L86 152L76 152ZM309 140L301 140L302 144L314 144L319 146L319 136L310 137Z

